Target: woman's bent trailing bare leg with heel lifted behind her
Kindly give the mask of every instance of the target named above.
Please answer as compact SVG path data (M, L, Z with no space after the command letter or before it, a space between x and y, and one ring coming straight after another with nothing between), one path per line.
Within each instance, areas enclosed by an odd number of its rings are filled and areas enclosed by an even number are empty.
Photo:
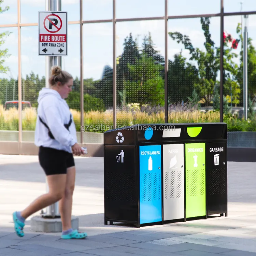
M28 218L35 212L58 202L64 195L67 174L54 174L46 176L49 192L35 199L20 215Z

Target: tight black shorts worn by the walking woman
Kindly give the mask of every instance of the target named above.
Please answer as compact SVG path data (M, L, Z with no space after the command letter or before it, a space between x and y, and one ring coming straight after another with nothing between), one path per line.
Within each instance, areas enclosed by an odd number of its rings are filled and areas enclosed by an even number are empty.
M75 166L72 153L51 147L39 147L39 163L46 175L66 174L67 168Z

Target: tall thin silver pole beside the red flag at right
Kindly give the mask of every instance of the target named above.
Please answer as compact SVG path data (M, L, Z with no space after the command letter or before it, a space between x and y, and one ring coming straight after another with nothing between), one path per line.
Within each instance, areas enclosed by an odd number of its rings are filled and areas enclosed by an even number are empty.
M248 15L244 15L245 26L244 26L244 49L243 49L243 96L244 96L244 118L247 120L247 109L248 109L248 73L247 73L247 44L248 44L248 32L247 32L247 18Z

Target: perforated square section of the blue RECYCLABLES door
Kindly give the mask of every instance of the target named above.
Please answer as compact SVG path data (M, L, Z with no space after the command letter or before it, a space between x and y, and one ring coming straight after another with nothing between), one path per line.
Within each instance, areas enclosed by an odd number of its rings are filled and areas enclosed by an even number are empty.
M160 200L161 195L160 173L141 174L141 201Z

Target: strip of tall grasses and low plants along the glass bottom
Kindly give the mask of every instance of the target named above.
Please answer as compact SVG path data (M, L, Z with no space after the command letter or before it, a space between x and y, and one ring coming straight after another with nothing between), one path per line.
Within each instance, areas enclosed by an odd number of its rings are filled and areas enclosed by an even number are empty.
M99 105L98 105L99 106ZM103 112L91 110L84 112L84 125L89 126L86 131L104 132L113 127L113 110ZM76 130L81 130L80 111L71 109ZM22 111L22 129L34 130L37 119L37 110L26 108ZM218 111L201 112L196 105L177 104L170 105L168 112L168 123L216 123L219 122ZM247 121L239 119L236 115L224 115L224 122L227 123L228 131L256 131L256 118L251 116ZM116 113L118 126L130 126L135 124L163 124L165 123L165 111L161 106L151 108L143 105L140 109L136 104L127 106L125 110L118 110ZM4 110L0 105L0 130L18 131L18 110L13 108Z

